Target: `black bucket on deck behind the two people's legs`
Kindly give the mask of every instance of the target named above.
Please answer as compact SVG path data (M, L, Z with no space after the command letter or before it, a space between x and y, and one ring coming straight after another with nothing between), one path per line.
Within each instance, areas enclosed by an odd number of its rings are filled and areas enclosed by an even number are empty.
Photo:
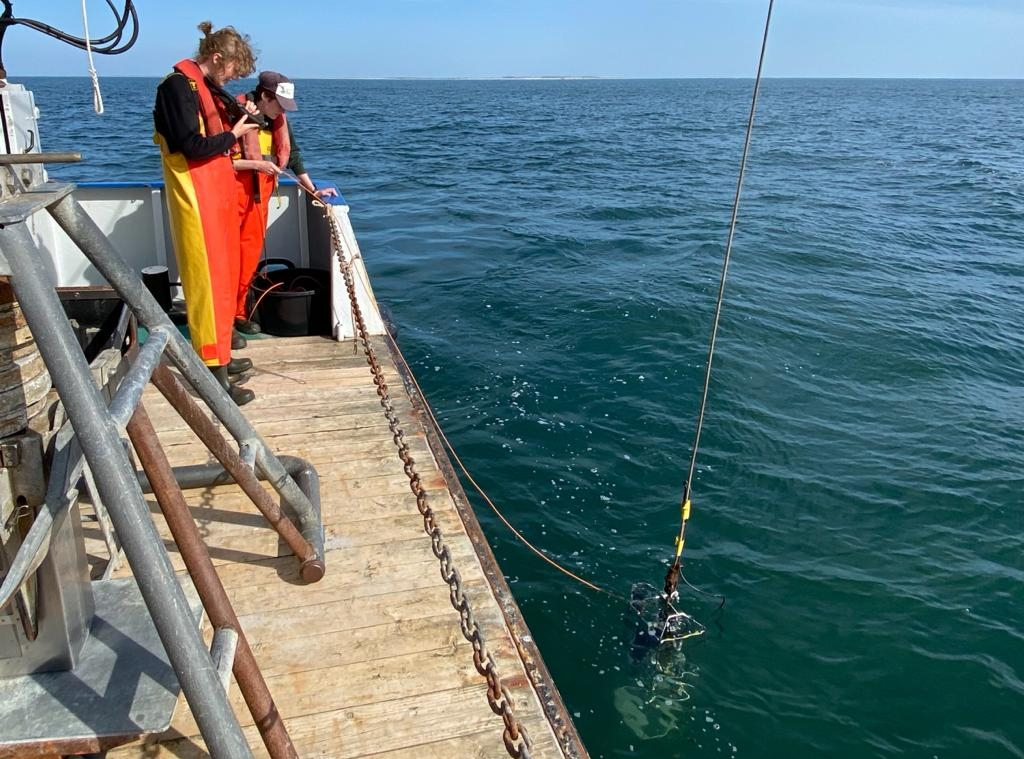
M257 304L254 319L266 334L331 334L331 272L327 269L295 268L287 259L268 258L249 289Z

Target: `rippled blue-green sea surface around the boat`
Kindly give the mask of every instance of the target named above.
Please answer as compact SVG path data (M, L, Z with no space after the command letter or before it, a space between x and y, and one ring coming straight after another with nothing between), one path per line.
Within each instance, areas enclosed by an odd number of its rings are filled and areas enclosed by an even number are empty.
M154 79L29 80L155 179ZM239 89L239 88L236 88ZM303 81L313 176L475 477L618 595L678 529L752 82ZM764 84L684 554L710 635L473 499L594 757L1024 757L1024 82Z

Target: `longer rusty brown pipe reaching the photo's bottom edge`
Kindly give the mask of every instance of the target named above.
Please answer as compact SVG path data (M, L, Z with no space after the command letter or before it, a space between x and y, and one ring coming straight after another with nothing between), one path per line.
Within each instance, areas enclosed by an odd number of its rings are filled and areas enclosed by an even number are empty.
M153 483L157 503L164 513L171 536L196 584L196 590L210 617L210 623L214 628L229 627L239 635L231 671L253 715L256 727L263 737L266 750L272 759L298 759L298 752L281 719L273 697L270 695L270 689L249 646L249 640L239 624L227 591L217 576L217 571L210 559L210 552L203 543L181 489L174 479L167 455L160 447L157 431L153 428L153 423L141 404L128 422L127 430L142 469Z

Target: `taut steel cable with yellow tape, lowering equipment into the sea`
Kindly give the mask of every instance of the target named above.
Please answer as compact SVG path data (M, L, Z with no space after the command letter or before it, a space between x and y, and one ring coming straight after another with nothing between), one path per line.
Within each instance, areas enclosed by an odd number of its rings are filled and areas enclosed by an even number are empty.
M732 241L736 235L736 219L739 216L739 198L742 194L743 177L746 174L746 159L751 150L751 135L754 132L754 116L757 113L758 95L761 92L761 77L762 72L764 71L765 51L768 47L768 30L771 28L771 11L773 5L774 0L768 0L768 13L765 17L764 35L761 39L761 55L758 58L758 73L754 79L754 94L751 97L751 112L746 119L746 133L743 136L743 153L739 160L739 176L736 178L736 194L732 201L732 217L729 219L729 237L725 244L725 257L722 262L722 278L719 281L718 300L715 303L715 319L712 323L711 339L708 344L708 363L705 368L703 389L700 393L700 411L697 414L696 431L693 435L693 449L690 456L690 467L686 474L686 483L683 487L683 497L680 501L682 520L679 525L679 536L676 538L676 558L672 567L669 570L669 576L666 578L667 594L671 594L675 590L675 586L678 583L679 557L682 554L683 546L685 545L686 522L689 519L690 514L690 496L692 494L693 473L696 470L697 451L700 448L700 433L703 429L705 414L708 409L708 390L711 387L711 369L712 362L715 357L715 341L718 338L718 325L722 315L722 303L725 299L725 283L729 272L729 259L732 256ZM677 574L677 579L675 581L671 579L673 572Z

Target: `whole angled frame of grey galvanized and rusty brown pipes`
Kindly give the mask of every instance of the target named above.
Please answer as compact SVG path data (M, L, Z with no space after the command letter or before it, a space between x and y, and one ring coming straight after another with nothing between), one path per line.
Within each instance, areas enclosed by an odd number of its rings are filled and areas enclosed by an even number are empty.
M37 162L41 158L40 154L33 156ZM286 468L283 460L270 452L138 275L125 263L75 200L74 188L71 183L50 181L0 203L0 273L10 277L14 294L74 430L72 436L57 435L55 460L61 462L69 476L75 476L82 471L81 458L84 457L92 474L90 484L94 482L93 497L102 502L110 514L145 607L211 755L218 759L249 759L252 756L226 697L226 670L233 667L236 680L271 756L274 759L294 757L295 749L188 513L181 487L237 481L293 548L301 563L302 578L315 582L325 571L324 529L315 472L304 467L301 460L294 459ZM148 338L137 348L109 406L93 382L44 265L44 255L26 223L33 214L43 210L106 279L138 324L148 330ZM199 410L164 363L165 359L188 381L232 435L239 444L238 452ZM223 468L173 470L170 467L141 406L142 392L150 382L193 426ZM144 477L135 471L122 440L123 431L131 438ZM293 478L293 474L301 474L307 480L311 478L311 486L307 481L304 492L296 481L302 481L301 477ZM259 484L258 475L268 480L281 495L283 503L296 516L298 529L270 500L269 494ZM215 628L213 656L204 645L195 612L153 522L144 489L156 494ZM60 490L51 487L48 491L46 504L23 541L3 588L17 587L38 566L40 555L46 551L50 530L67 516L70 508L67 492L57 492ZM4 603L4 594L0 592L0 607Z

